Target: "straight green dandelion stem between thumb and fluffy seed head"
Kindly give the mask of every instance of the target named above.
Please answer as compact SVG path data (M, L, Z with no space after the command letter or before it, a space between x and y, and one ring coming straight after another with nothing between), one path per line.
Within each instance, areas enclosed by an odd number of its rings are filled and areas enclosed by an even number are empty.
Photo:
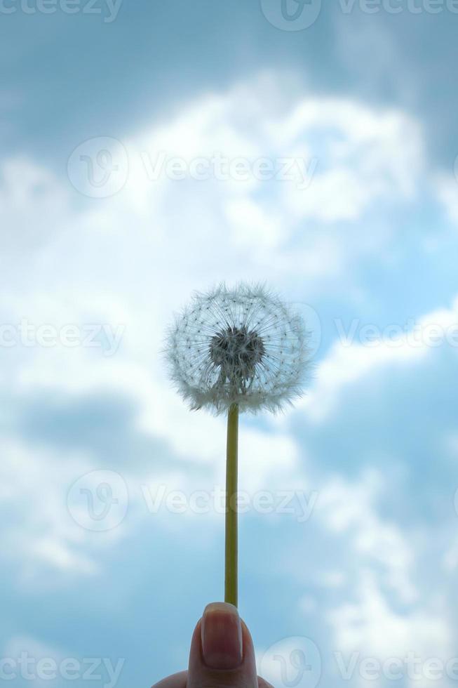
M224 601L237 606L237 463L238 463L238 404L227 413L226 452L226 567Z

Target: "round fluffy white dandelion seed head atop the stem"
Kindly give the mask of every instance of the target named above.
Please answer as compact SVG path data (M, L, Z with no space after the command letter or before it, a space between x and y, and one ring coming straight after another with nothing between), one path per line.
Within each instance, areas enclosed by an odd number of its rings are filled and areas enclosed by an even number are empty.
M302 394L307 333L264 286L197 293L170 329L170 376L193 409L278 411Z

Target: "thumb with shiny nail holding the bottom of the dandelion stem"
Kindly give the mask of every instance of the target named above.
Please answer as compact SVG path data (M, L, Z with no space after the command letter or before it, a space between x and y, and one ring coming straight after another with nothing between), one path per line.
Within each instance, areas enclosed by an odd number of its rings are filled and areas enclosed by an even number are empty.
M255 650L236 607L208 604L194 630L187 688L258 688Z

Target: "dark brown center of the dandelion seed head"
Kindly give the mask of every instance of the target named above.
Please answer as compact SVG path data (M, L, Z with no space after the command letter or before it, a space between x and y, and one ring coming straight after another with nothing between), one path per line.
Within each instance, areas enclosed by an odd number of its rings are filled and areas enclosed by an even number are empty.
M244 326L228 327L210 341L210 358L220 368L220 375L240 388L252 380L264 353L262 338Z

